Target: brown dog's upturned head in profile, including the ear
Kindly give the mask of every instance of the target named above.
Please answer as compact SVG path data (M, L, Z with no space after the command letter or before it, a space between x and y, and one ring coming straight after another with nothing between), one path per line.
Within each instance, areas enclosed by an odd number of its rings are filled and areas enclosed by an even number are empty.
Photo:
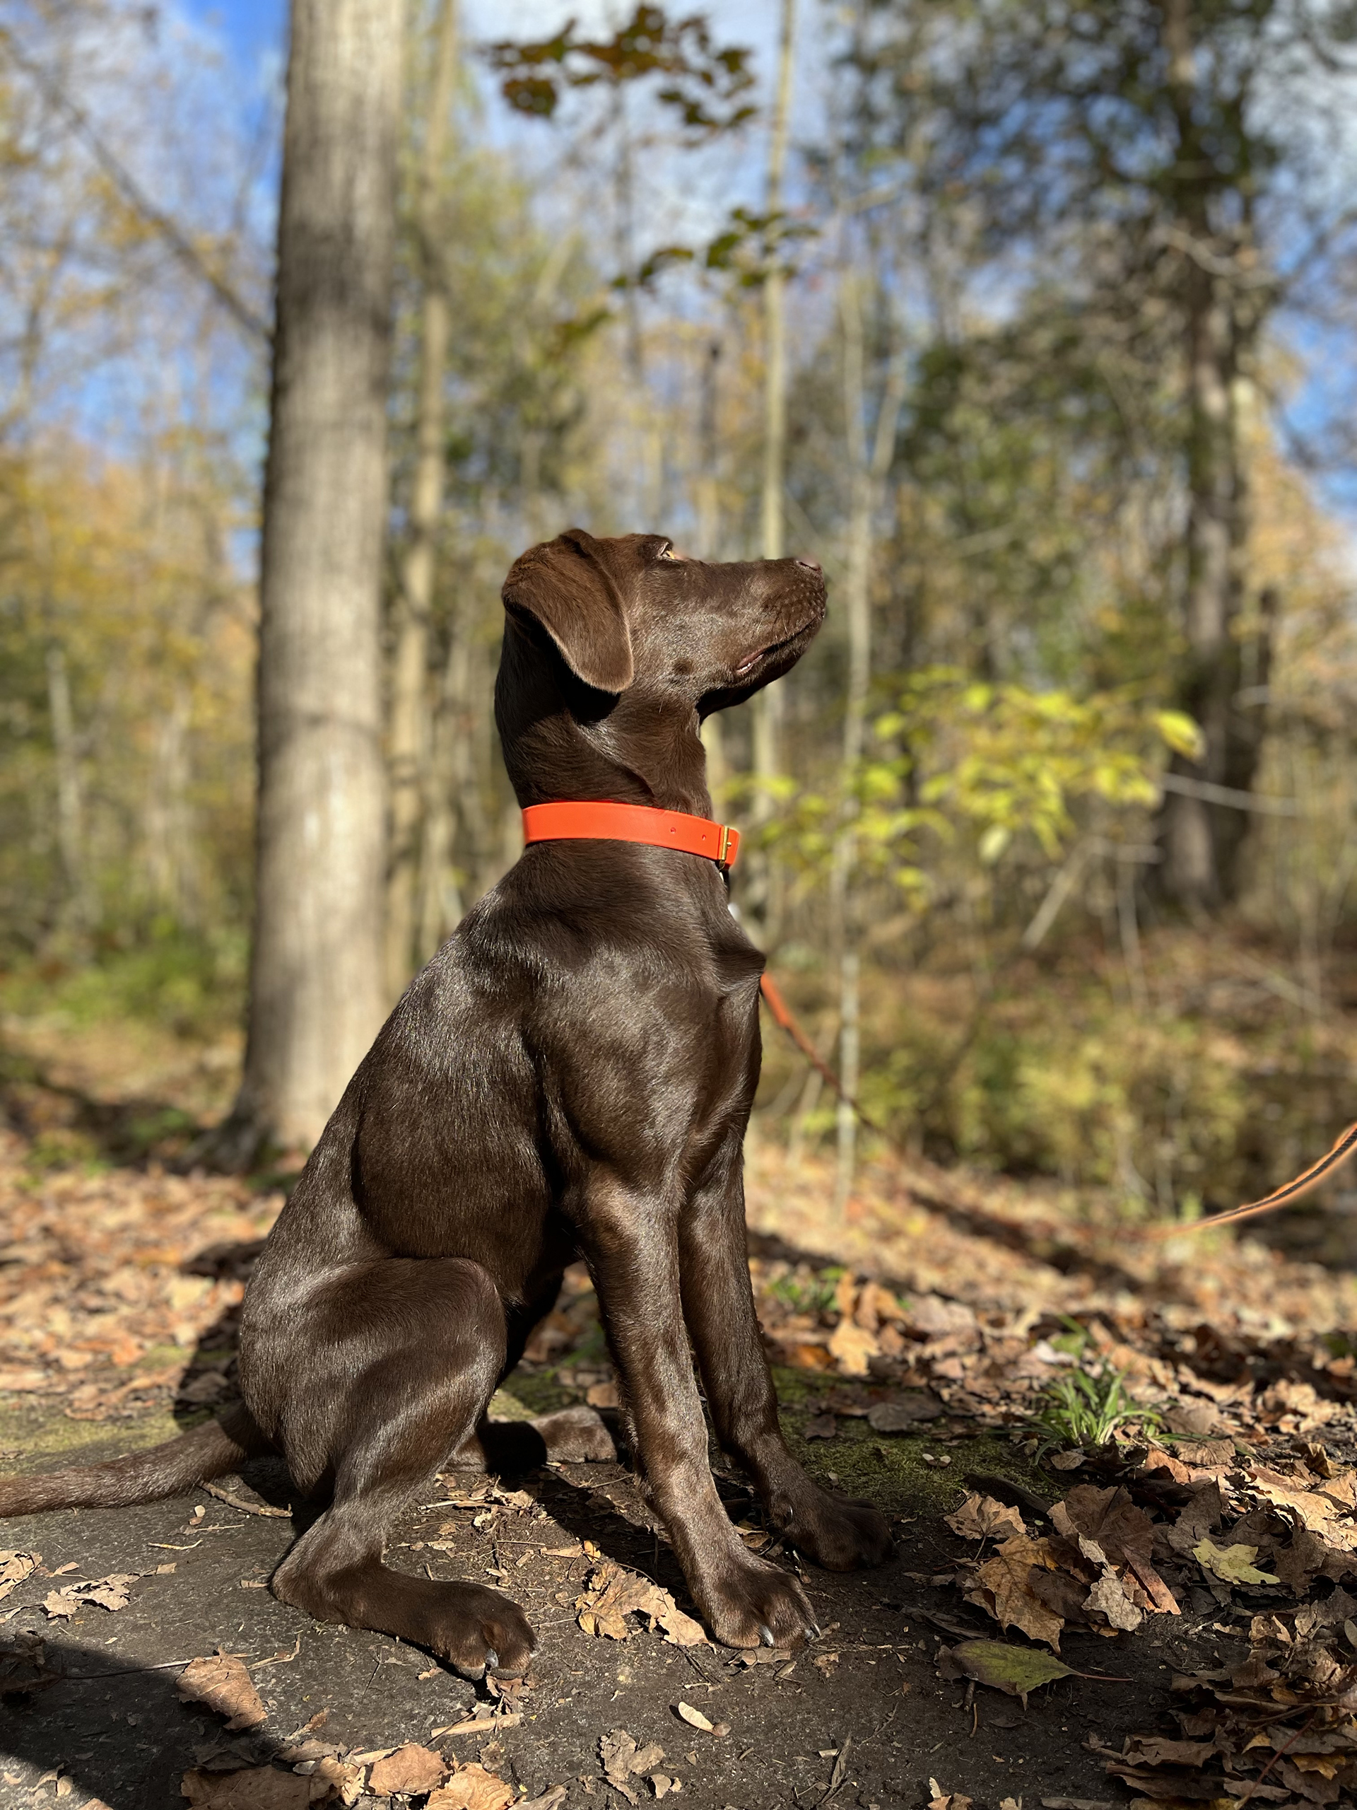
M510 635L525 634L586 688L662 697L704 717L782 677L825 619L812 559L707 565L662 534L566 529L514 561L503 595Z

